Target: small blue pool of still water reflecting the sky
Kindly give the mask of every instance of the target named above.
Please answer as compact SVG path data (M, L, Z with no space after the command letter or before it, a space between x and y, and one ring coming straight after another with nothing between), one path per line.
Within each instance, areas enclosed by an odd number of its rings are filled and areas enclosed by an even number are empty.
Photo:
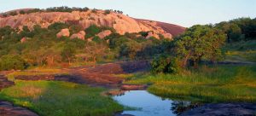
M136 110L125 110L122 114L135 116L176 116L189 102L177 102L154 96L146 90L126 91L124 95L113 96L113 99L126 107L137 107Z

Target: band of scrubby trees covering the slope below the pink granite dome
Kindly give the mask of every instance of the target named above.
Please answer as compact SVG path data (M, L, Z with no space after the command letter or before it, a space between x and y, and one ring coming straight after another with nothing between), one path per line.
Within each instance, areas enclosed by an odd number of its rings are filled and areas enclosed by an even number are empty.
M68 28L70 34L86 32L85 40L68 37L57 38L56 33ZM106 38L99 32L110 30ZM10 26L0 28L0 70L26 69L28 67L67 67L73 64L96 63L97 61L148 59L164 51L165 38L146 39L144 34L119 35L113 28L92 25L83 29L72 23L56 22L48 28L39 25L30 30ZM24 42L21 42L25 38ZM92 38L92 42L88 41Z

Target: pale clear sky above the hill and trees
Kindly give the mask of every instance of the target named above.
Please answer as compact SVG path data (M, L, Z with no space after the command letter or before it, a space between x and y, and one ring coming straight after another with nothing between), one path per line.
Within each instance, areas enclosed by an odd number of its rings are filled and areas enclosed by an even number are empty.
M134 18L185 27L256 17L256 0L0 0L0 12L59 6L118 9Z

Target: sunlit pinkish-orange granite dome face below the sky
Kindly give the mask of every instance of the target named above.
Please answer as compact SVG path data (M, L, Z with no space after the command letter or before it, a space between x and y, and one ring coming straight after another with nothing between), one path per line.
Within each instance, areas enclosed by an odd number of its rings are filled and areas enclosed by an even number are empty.
M152 36L159 38L162 34L165 38L172 38L182 33L185 28L172 24L152 20L137 20L125 14L105 10L73 11L73 12L36 12L31 14L16 14L0 18L0 27L11 26L22 29L34 25L48 27L55 22L73 23L83 28L91 25L113 27L119 34L125 32L151 32Z

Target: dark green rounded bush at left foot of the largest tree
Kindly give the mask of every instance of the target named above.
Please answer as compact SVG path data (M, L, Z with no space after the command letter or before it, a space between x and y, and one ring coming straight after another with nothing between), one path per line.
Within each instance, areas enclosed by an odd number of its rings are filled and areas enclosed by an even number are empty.
M160 55L151 62L152 73L178 73L180 70L177 58Z

